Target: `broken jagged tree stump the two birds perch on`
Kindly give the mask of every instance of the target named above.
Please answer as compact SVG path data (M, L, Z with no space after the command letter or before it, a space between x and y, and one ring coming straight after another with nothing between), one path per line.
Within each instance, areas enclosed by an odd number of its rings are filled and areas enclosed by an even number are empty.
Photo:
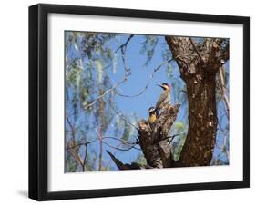
M147 160L147 166L138 163L123 164L113 154L109 156L116 163L119 170L148 169L172 167L173 156L169 146L169 130L175 122L179 112L179 104L166 105L156 123L150 124L146 120L138 122L138 143Z

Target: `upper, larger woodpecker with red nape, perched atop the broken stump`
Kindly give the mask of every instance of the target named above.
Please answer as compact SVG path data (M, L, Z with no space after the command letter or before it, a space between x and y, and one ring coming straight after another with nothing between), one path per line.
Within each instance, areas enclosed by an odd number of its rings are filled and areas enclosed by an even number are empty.
M170 102L170 86L169 83L158 84L159 87L163 89L163 92L160 94L159 101L156 104L155 111L157 116L159 116L159 111Z

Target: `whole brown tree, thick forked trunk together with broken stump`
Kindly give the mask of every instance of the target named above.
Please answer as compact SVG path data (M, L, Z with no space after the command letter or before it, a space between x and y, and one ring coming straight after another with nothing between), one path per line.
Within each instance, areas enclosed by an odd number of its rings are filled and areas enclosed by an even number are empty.
M179 105L162 109L158 122L152 127L147 121L138 122L139 145L147 166L124 165L108 152L118 169L207 166L214 150L217 131L216 73L229 58L229 46L224 39L206 38L197 44L189 37L166 36L169 49L179 65L180 77L187 85L189 99L189 131L180 153L173 161L168 132L176 119Z

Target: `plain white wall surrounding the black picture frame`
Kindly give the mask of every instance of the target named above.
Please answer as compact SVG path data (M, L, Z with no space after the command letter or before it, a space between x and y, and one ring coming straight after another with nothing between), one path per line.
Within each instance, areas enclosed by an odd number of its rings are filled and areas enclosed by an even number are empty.
M33 0L2 1L0 31L0 203L33 204L27 194L27 142L28 142L28 70L27 70L27 6L38 3ZM63 0L44 1L51 4L94 5L108 7L127 7L149 10L166 10L175 12L209 13L217 15L250 15L251 16L251 57L256 54L256 14L253 1L138 1L138 0ZM253 9L254 8L254 9ZM251 76L256 76L256 60L251 58ZM251 79L251 145L256 140L256 81ZM254 125L254 126L253 126ZM252 148L252 146L251 146ZM256 191L255 149L251 149L251 189L212 190L199 192L182 192L147 196L116 197L91 200L55 201L55 204L131 204L134 202L149 204L165 203L185 204L195 201L197 204L244 203L253 198Z

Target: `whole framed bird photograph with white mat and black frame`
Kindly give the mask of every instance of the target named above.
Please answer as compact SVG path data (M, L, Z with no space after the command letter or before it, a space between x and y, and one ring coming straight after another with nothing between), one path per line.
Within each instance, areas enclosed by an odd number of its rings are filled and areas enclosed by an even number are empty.
M29 7L29 197L250 186L250 19Z

